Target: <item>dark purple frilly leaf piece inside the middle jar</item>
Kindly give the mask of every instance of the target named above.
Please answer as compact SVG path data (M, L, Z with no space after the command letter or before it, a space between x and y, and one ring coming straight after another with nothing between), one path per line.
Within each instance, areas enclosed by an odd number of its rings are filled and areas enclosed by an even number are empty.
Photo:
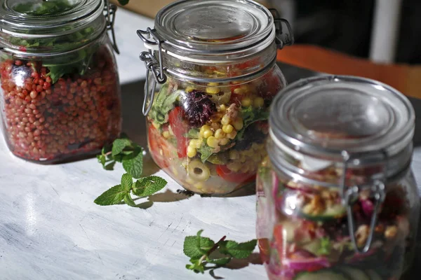
M216 112L216 106L208 94L199 92L199 90L186 93L182 97L181 104L185 111L185 118L191 127L197 128L205 125Z

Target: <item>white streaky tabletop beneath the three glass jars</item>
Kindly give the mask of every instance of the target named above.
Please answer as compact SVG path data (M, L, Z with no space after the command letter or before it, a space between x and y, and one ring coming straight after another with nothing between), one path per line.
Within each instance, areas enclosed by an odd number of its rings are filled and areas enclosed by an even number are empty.
M118 63L126 83L123 129L143 146L142 83L133 81L145 76L138 62L142 44L135 29L151 25L152 20L126 11L117 17L122 52ZM293 68L287 67L286 73L297 76ZM36 165L11 155L1 138L0 279L213 279L208 273L185 269L185 236L203 229L203 235L213 239L255 238L253 190L237 197L187 199L176 194L180 186L150 160L145 165L149 174L157 172L167 179L168 188L145 199L143 209L99 207L93 200L119 183L120 166L107 172L96 159ZM421 149L415 151L413 168L421 182ZM266 279L257 253L215 274L225 279Z

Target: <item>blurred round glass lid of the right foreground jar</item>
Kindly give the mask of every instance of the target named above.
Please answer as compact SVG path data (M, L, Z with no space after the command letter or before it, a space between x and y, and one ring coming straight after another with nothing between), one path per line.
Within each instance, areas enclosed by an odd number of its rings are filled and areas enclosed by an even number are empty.
M375 80L318 76L278 94L269 123L276 144L328 165L344 153L400 153L412 141L415 112L403 94Z

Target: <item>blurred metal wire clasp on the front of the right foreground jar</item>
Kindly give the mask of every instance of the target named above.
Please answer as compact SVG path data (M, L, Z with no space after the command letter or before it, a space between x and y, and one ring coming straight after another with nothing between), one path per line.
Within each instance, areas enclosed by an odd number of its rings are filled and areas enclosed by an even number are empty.
M352 158L349 155L349 153L347 153L346 151L342 152L344 161L343 161L343 169L342 169L343 173L342 173L342 178L340 182L340 195L342 197L342 204L344 204L345 207L347 207L349 236L351 237L354 250L357 253L367 253L368 250L370 249L371 243L373 241L375 225L377 223L377 214L379 213L380 206L382 202L385 201L385 197L386 197L385 181L387 180L388 155L385 151L382 151L380 155L382 155L382 158L384 160L384 168L382 172L382 177L380 179L375 179L373 181L373 184L370 184L370 185L364 185L364 186L356 185L356 186L347 188L346 179L347 179L347 168L348 168L349 162L351 162L352 160L361 160L361 158ZM362 249L358 246L358 243L356 241L356 237L355 237L356 225L354 222L354 214L352 212L352 208L355 202L358 200L359 193L361 190L370 190L370 197L372 197L375 200L374 211L373 211L372 216L370 217L370 229L369 229L368 238L366 240L366 244L364 244Z

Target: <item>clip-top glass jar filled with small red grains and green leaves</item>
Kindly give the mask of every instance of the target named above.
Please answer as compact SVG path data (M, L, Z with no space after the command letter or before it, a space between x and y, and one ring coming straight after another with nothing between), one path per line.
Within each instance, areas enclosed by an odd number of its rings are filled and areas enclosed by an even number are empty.
M115 10L103 0L4 1L0 105L14 155L68 161L119 136L119 76L107 36Z

